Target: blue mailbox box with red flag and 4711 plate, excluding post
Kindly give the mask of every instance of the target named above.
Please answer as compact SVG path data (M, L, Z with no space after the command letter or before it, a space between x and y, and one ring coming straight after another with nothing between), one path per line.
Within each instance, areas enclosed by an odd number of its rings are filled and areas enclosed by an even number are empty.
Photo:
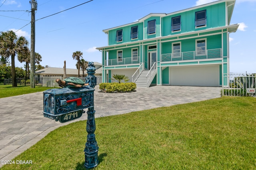
M61 123L77 119L94 106L94 88L57 88L44 91L44 117Z

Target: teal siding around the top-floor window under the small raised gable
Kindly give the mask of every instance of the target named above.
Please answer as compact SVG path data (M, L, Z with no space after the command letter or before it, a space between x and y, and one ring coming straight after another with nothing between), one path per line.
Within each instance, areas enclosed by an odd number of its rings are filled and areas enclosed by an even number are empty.
M156 33L154 34L148 34L148 21L156 20ZM146 19L144 21L144 39L154 38L154 37L160 37L160 17L154 16Z

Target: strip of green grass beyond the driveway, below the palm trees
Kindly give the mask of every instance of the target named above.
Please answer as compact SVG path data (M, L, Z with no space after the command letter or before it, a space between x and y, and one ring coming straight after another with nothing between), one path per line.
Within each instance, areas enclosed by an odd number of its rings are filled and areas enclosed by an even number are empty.
M40 86L35 86L35 88L30 88L30 86L18 85L18 87L12 87L12 85L0 85L0 98L18 96L18 95L29 94L34 92L42 92L49 88L50 87L40 87Z

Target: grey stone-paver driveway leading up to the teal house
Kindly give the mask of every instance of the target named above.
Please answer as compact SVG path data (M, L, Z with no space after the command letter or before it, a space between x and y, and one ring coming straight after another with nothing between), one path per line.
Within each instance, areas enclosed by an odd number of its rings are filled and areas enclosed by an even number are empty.
M99 93L96 86L95 117L219 98L221 88L153 86L136 90L132 93L108 94ZM83 114L74 121L60 123L44 117L42 111L43 92L0 98L0 160L12 160L60 126L87 119L87 115Z

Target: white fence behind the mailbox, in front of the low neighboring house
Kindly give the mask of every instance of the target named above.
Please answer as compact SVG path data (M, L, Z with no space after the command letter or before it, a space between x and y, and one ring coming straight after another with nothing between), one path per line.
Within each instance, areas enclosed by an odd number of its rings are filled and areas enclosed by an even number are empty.
M44 87L60 87L58 83L56 83L56 79L60 78L62 80L62 76L54 76L54 77L43 77L42 78L42 86ZM85 77L79 77L81 80L85 82ZM102 82L102 76L96 76L97 85Z

